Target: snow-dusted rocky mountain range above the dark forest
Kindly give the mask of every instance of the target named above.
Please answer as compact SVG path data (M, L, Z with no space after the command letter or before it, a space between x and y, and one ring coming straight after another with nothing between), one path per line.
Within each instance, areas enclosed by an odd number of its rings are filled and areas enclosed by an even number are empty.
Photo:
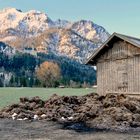
M109 33L92 21L53 21L35 10L0 11L0 41L20 52L53 53L83 63L108 37Z

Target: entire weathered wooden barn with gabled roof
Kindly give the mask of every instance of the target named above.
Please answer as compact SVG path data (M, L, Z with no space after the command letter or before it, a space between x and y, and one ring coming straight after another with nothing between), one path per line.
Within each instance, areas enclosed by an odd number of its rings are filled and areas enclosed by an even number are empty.
M97 92L140 94L140 39L113 33L86 62L97 66Z

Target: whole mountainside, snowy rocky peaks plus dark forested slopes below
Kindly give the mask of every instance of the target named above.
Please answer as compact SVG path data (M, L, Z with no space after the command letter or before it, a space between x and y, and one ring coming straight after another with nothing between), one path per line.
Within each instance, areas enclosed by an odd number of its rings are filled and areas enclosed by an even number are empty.
M96 71L83 63L109 37L92 21L53 21L47 14L15 8L0 11L0 86L41 86L35 71L56 62L66 86L96 83ZM88 72L87 72L88 71Z

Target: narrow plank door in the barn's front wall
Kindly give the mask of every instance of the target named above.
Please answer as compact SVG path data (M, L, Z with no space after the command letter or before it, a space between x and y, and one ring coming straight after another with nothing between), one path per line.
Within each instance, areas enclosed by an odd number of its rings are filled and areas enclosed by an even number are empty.
M117 60L117 91L128 91L127 59Z

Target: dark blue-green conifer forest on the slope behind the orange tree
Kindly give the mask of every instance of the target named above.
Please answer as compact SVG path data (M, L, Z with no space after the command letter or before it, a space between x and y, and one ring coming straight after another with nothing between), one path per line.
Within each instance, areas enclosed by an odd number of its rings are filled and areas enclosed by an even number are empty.
M96 82L96 71L87 65L75 60L54 54L42 54L33 56L27 53L16 53L9 56L0 53L0 86L10 87L43 87L37 77L36 70L43 62L57 63L60 68L60 77L53 81L53 87L64 85L66 87L90 86ZM50 78L46 77L46 81Z

